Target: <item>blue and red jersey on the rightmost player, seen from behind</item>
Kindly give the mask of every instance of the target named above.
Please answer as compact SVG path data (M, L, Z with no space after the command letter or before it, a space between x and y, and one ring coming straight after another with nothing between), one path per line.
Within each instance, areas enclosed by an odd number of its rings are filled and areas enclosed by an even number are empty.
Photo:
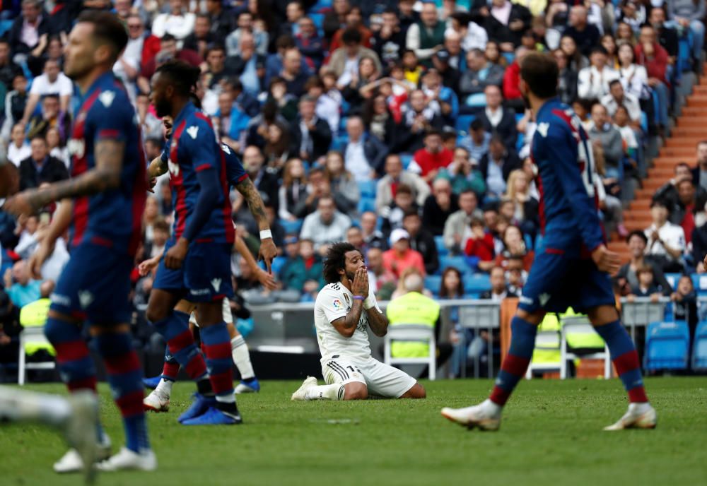
M592 144L579 117L557 99L537 112L530 150L537 170L546 249L592 251L604 242L597 213Z

